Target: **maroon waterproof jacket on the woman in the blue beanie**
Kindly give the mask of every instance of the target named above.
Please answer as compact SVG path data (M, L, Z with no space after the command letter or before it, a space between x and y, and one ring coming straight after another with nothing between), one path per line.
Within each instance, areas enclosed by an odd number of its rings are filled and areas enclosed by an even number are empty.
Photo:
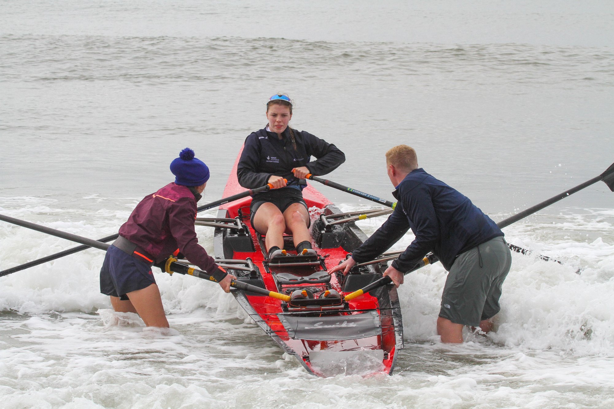
M145 251L155 263L179 249L191 263L212 273L217 264L198 244L195 218L194 194L185 186L169 183L136 205L119 234Z

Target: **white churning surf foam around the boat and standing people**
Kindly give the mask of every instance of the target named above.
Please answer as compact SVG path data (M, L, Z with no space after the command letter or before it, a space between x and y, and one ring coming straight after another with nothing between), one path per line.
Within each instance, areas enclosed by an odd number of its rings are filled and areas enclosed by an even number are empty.
M88 237L106 235L126 217L99 210L53 222L60 213L53 203L45 205L53 216L37 213L40 202L31 205L2 212ZM385 219L359 225L370 234ZM603 405L613 399L614 224L602 211L555 219L505 229L510 243L534 253L513 253L502 311L486 337L465 332L464 345L441 344L435 320L445 270L435 264L406 276L399 289L405 349L394 376L371 378L349 375L360 372L353 364L313 378L231 295L190 276L156 273L171 329L147 329L138 316L109 310L99 294L101 251L69 255L2 278L0 392L6 407ZM596 230L599 237L587 241ZM198 231L211 251L211 230ZM394 248L411 240L408 233ZM70 244L0 224L0 246L10 249L0 256L9 267Z

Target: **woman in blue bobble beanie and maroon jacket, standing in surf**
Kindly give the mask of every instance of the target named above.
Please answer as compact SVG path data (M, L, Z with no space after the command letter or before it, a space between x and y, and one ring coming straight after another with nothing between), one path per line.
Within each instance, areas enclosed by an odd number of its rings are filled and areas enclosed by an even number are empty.
M219 267L198 244L194 230L196 202L209 180L209 168L185 148L171 162L175 181L147 195L119 229L100 270L100 292L121 313L137 313L148 327L166 327L160 290L151 267L182 254L216 278L225 292L236 278Z

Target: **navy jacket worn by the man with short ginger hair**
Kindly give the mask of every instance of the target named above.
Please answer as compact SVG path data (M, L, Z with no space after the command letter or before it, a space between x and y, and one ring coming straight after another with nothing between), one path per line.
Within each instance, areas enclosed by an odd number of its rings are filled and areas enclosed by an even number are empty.
M450 270L456 256L503 232L475 204L424 169L411 171L393 193L397 206L388 220L352 253L357 263L373 260L409 228L416 235L392 267L410 271L428 252Z

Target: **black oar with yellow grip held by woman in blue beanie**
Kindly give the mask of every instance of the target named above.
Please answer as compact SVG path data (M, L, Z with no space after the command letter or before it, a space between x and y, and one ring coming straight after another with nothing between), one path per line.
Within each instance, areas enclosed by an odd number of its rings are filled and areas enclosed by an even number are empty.
M32 230L36 230L37 232L47 233L48 235L60 237L66 240L74 241L76 243L85 244L88 247L95 247L96 249L106 251L111 246L111 244L103 243L98 240L91 240L87 237L62 232L61 230L56 230L55 228L41 226L32 222L26 222L25 220L15 219L15 217L4 216L3 214L0 214L0 220L4 220L5 222L16 224L21 227L31 228ZM177 259L169 258L168 260L166 260L166 263L161 263L159 265L156 265L156 267L159 267L162 271L166 271L169 274L171 274L171 271L173 271L175 273L188 274L198 278L208 279L210 281L217 282L216 279L213 278L213 276L209 275L205 271L198 270L198 268L193 268L188 265L179 263L177 262ZM277 298L278 300L290 301L289 295L279 294L278 292L269 291L260 287L252 286L252 284L247 284L246 282L232 280L230 281L230 286L244 291L267 295L268 297Z

